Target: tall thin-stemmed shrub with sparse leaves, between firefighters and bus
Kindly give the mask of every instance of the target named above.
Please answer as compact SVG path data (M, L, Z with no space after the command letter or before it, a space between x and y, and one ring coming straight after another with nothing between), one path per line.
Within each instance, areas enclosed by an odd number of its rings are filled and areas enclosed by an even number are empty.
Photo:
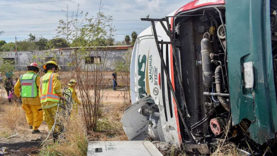
M95 17L88 18L88 13L83 13L77 7L77 12L69 14L65 10L66 20L59 21L58 34L67 40L68 45L73 46L69 50L69 56L76 78L83 106L83 118L88 130L95 130L98 116L102 114L102 101L104 91L103 72L106 69L106 51L100 53L102 40L111 37L113 31L107 23L112 19L101 12L102 5ZM84 24L87 22L87 24ZM107 28L110 28L108 33ZM92 56L92 57L91 57Z

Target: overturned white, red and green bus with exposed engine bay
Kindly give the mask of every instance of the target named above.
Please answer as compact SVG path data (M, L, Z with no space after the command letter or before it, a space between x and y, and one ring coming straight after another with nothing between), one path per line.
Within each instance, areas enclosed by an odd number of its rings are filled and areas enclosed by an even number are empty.
M129 140L209 154L227 135L248 154L276 153L277 1L194 0L139 34ZM271 150L269 150L271 149Z

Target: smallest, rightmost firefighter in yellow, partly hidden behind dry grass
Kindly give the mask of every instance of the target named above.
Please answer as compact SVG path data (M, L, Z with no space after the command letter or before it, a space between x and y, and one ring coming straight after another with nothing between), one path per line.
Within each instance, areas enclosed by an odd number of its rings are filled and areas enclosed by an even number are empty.
M72 102L73 102L71 118L73 118L75 115L78 114L78 106L77 105L81 105L81 102L79 101L77 93L75 91L76 84L77 84L77 81L74 79L70 80L68 83L69 89L71 90L71 98L72 98Z

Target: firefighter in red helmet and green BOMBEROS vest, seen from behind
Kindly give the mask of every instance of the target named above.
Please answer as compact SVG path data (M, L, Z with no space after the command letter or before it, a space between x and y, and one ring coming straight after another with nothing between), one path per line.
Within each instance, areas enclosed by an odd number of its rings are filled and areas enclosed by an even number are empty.
M40 104L38 88L40 84L40 71L38 64L31 63L27 66L27 73L20 76L14 86L14 93L18 98L21 97L22 108L26 114L29 129L33 129L32 133L40 133L38 127L42 123L43 110Z

